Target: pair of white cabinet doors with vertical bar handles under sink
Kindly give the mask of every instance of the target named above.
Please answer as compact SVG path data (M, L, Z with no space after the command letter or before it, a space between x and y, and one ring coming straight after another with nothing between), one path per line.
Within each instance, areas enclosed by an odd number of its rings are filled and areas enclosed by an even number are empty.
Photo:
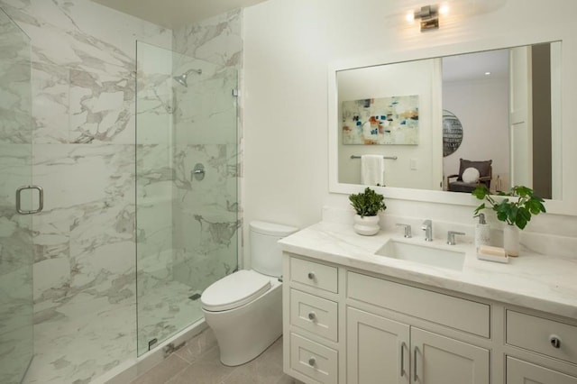
M347 308L347 384L489 383L489 351Z

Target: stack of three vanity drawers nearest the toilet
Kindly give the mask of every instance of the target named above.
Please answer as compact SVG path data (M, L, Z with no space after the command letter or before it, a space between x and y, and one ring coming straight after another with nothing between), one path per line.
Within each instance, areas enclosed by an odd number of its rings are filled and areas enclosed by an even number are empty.
M344 383L339 268L285 253L283 277L284 370L305 383Z

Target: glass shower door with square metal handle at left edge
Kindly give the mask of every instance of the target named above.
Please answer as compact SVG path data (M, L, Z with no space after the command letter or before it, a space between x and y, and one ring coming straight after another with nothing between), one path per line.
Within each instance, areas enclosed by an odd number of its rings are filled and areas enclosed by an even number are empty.
M30 39L0 8L0 382L20 383L32 360L32 215L16 189L32 184ZM38 207L30 189L24 211Z

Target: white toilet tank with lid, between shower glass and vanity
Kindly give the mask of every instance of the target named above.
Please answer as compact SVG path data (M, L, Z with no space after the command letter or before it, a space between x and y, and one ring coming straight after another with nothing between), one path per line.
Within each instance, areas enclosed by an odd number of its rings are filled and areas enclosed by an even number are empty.
M277 242L297 232L298 228L260 221L251 222L249 228L252 270L263 275L280 277L282 275L282 251Z

